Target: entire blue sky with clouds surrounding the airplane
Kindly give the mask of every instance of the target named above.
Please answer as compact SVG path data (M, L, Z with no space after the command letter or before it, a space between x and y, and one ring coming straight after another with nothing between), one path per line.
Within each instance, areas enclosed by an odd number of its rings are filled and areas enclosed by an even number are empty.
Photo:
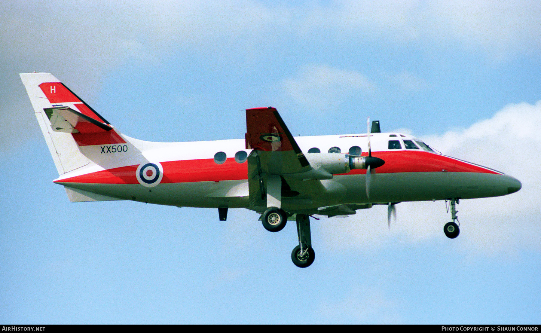
M0 4L3 323L539 323L541 5L457 1ZM272 105L294 135L410 132L519 192L294 223L70 203L18 73L51 72L120 131L242 138Z

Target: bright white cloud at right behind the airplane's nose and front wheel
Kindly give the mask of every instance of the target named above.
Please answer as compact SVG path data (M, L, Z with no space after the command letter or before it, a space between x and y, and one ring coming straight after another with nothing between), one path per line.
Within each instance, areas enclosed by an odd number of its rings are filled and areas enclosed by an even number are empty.
M462 130L422 137L444 154L506 172L519 179L520 191L494 198L463 200L460 248L472 256L514 255L541 251L541 101L510 104L492 118ZM371 251L393 242L443 242L443 225L451 221L443 202L404 202L396 206L398 221L387 230L385 206L359 210L348 219L322 223L327 245Z

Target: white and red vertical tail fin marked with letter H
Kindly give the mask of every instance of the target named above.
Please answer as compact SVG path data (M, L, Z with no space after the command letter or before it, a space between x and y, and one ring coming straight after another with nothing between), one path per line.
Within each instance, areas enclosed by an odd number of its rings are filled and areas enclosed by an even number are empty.
M93 163L80 146L126 143L108 121L52 74L20 76L58 175Z

